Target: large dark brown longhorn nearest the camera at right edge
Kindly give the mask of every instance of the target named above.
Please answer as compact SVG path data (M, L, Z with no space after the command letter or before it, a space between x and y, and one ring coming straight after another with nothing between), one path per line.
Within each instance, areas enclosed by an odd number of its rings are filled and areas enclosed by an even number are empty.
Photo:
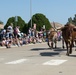
M69 56L69 54L72 53L73 43L76 38L76 26L73 24L67 23L64 27L61 27L60 30L62 31L62 37L67 48L66 55Z

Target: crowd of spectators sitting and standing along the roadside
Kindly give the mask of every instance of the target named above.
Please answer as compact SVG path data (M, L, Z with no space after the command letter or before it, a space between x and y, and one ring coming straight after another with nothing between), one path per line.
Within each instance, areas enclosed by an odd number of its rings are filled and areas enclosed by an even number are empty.
M22 33L20 27L16 26L13 29L13 24L10 24L6 29L0 32L0 46L11 48L14 46L22 46L30 43L41 43L46 41L46 30L41 29L37 31L36 29L29 28L28 34Z

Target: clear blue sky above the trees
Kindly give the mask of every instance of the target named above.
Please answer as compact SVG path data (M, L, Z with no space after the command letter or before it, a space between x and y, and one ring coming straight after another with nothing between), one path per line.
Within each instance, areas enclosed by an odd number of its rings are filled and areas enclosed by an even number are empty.
M66 24L69 17L76 14L76 0L31 0L32 15L44 14L50 22ZM30 0L0 0L0 20L6 24L13 16L21 16L28 23L30 20Z

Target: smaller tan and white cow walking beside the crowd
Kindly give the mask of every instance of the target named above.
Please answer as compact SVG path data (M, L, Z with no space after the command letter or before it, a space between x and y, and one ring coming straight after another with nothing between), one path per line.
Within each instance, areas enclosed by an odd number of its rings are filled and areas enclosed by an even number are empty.
M48 46L50 48L55 48L57 47L57 31L55 29L51 28L50 31L48 32Z

